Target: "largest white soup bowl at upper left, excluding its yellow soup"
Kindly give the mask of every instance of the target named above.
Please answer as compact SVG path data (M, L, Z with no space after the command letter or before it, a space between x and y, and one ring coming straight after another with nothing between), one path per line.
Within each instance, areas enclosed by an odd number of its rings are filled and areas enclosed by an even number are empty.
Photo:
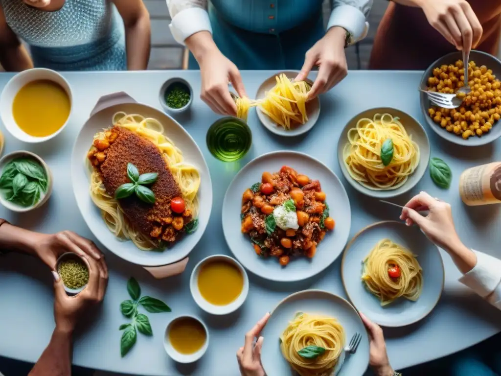
M19 90L21 90L21 88L24 87L26 84L38 80L50 80L61 85L61 87L66 91L66 94L68 94L68 97L70 98L71 108L70 108L70 114L68 115L68 119L66 119L66 122L63 124L61 128L59 128L56 132L46 137L31 136L25 131L23 131L16 123L16 120L14 120L14 114L12 113L12 105L14 102L14 98L16 97L16 94L18 94ZM9 80L7 85L5 85L4 87L4 90L2 91L2 95L0 95L0 117L2 117L2 121L5 127L7 128L9 133L11 133L14 137L24 142L38 143L56 137L59 133L63 131L63 129L68 124L68 120L71 118L72 111L73 111L73 95L71 92L70 84L58 72L50 69L35 68L18 73L16 76L14 76Z

